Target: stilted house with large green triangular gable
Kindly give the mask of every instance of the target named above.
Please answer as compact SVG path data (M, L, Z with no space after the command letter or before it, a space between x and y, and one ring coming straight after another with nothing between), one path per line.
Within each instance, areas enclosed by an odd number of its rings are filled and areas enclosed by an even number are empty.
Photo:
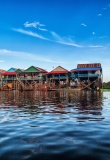
M21 72L19 72L19 81L22 84L22 86L24 85L25 88L24 90L42 90L44 89L44 85L46 78L45 78L45 74L47 73L46 70L39 68L39 67L35 67L35 66L30 66L29 68L27 68L26 70L22 70Z

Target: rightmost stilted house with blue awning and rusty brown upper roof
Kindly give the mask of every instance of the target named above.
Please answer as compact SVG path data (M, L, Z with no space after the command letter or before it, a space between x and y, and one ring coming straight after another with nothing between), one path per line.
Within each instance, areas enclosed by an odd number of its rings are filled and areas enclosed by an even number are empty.
M71 83L82 89L102 88L102 67L100 63L78 64L71 70Z

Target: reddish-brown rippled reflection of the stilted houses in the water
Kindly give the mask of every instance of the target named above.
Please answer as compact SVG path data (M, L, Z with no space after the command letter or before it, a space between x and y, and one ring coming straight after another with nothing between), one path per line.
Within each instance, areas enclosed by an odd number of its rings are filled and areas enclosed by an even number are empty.
M90 91L0 92L0 107L25 108L27 114L68 114L77 120L102 120L103 93ZM94 117L90 116L94 115Z

